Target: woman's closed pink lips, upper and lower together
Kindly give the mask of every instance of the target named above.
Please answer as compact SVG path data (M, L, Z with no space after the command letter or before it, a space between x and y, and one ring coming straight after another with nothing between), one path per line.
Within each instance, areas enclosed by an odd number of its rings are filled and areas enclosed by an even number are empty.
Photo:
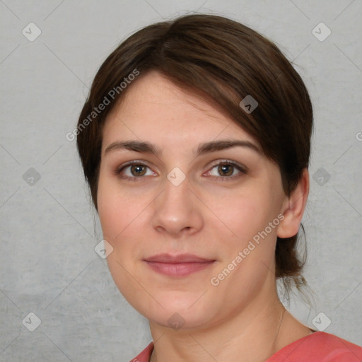
M214 264L214 259L205 259L192 254L158 254L144 259L148 267L166 276L188 276Z

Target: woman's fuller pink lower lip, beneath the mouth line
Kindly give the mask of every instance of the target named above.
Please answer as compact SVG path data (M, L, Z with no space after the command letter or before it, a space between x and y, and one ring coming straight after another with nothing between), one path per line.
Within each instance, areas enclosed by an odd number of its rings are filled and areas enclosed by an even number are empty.
M183 262L183 263L163 263L163 262L146 262L151 269L160 274L167 276L188 276L206 269L214 260L210 262Z

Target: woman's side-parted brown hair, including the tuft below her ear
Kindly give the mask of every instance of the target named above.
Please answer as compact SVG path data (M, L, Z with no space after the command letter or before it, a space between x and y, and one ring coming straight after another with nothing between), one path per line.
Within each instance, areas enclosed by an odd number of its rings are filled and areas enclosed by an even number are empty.
M86 117L109 98L134 70L160 71L178 86L203 91L236 124L259 141L265 156L279 165L290 195L308 168L313 108L305 85L274 43L236 21L194 14L148 25L130 36L100 66L78 120L77 146L84 175L97 206L102 130L107 114L124 91L92 122ZM136 81L136 80L135 80ZM240 101L251 95L258 106L245 112ZM303 226L302 226L303 228ZM289 290L305 284L298 234L276 242L276 279Z

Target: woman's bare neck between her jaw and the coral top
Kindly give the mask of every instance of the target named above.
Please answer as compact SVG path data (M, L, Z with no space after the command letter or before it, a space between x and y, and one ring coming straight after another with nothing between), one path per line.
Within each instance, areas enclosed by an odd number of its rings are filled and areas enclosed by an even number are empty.
M269 303L265 303L269 300ZM265 361L292 341L310 334L281 304L260 295L236 315L218 325L175 331L150 322L155 347L151 362L166 361Z

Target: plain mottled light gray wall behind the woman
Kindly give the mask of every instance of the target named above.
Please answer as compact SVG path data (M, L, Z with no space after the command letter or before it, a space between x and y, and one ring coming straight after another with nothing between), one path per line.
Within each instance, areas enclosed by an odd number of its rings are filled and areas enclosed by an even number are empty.
M0 361L128 361L151 341L94 250L102 235L65 135L112 49L187 11L250 25L303 76L315 108L304 216L314 298L297 293L288 308L314 328L322 312L318 327L330 320L325 332L362 344L361 0L4 0L0 11Z

